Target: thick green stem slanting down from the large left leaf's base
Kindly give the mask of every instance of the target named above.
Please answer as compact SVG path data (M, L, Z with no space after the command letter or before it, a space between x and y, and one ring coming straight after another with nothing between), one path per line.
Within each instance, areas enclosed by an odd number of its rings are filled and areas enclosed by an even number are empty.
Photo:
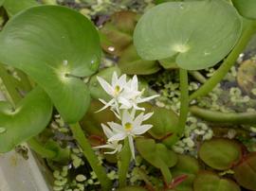
M92 166L92 169L96 173L99 181L101 182L102 190L109 191L111 190L111 182L106 176L106 171L101 166L96 154L87 138L85 137L82 128L79 123L70 125L70 129L73 132L73 137L77 140L78 144L82 148L83 155L88 160L89 164Z

